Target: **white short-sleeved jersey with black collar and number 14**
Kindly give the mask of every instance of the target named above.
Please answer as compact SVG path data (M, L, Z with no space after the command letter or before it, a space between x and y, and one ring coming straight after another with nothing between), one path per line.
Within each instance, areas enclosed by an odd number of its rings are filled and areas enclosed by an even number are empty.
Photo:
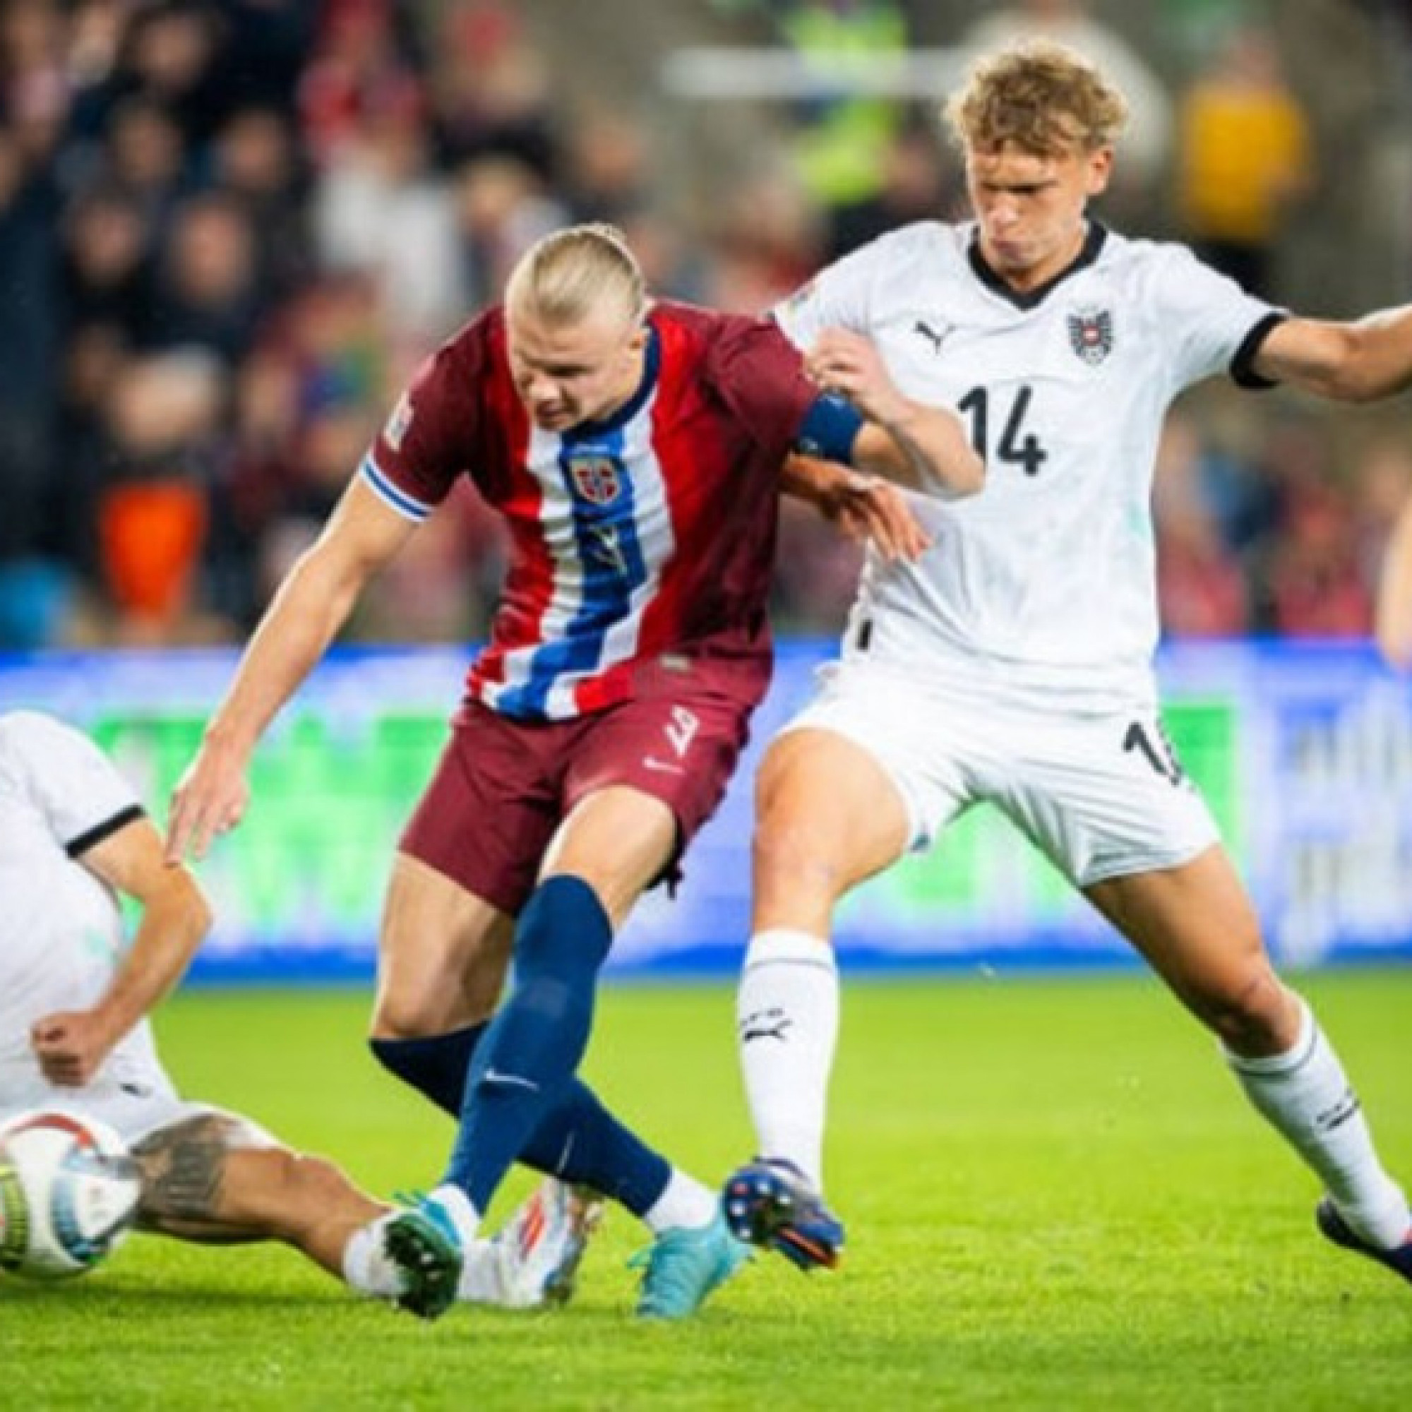
M1075 710L1154 699L1151 491L1162 418L1185 387L1243 371L1282 315L1185 247L1090 226L1031 295L973 251L974 225L925 222L864 246L775 309L802 349L866 333L898 387L949 407L987 465L964 500L919 496L916 563L871 549L844 655L938 689Z

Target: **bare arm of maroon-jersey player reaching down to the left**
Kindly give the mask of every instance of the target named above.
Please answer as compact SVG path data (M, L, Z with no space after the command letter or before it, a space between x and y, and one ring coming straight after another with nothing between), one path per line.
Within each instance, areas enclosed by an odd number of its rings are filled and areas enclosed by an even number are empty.
M205 740L172 794L167 858L203 857L246 812L246 768L256 741L315 668L353 611L363 586L405 544L415 524L354 480L318 541L280 585Z

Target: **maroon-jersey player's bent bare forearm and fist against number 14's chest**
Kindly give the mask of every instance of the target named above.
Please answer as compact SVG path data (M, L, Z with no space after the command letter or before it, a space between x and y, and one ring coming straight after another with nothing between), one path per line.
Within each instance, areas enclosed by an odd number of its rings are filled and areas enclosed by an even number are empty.
M805 366L820 387L847 397L867 418L854 463L926 494L973 496L986 484L986 463L960 419L940 407L904 397L871 339L825 329Z

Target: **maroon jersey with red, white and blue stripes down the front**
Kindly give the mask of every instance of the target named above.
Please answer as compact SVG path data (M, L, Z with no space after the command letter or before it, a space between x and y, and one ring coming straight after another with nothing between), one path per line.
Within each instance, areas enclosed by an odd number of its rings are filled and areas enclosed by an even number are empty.
M664 672L750 703L768 685L779 467L818 390L774 321L658 304L650 323L631 400L546 432L490 309L428 360L360 467L411 520L462 474L504 515L508 572L467 692L507 716L600 710Z

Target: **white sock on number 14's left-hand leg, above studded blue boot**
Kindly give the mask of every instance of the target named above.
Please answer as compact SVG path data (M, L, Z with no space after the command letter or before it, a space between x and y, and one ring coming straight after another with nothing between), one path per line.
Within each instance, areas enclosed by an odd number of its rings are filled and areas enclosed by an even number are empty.
M788 1158L822 1192L823 1124L839 1038L833 947L784 928L753 936L736 1024L760 1155Z

